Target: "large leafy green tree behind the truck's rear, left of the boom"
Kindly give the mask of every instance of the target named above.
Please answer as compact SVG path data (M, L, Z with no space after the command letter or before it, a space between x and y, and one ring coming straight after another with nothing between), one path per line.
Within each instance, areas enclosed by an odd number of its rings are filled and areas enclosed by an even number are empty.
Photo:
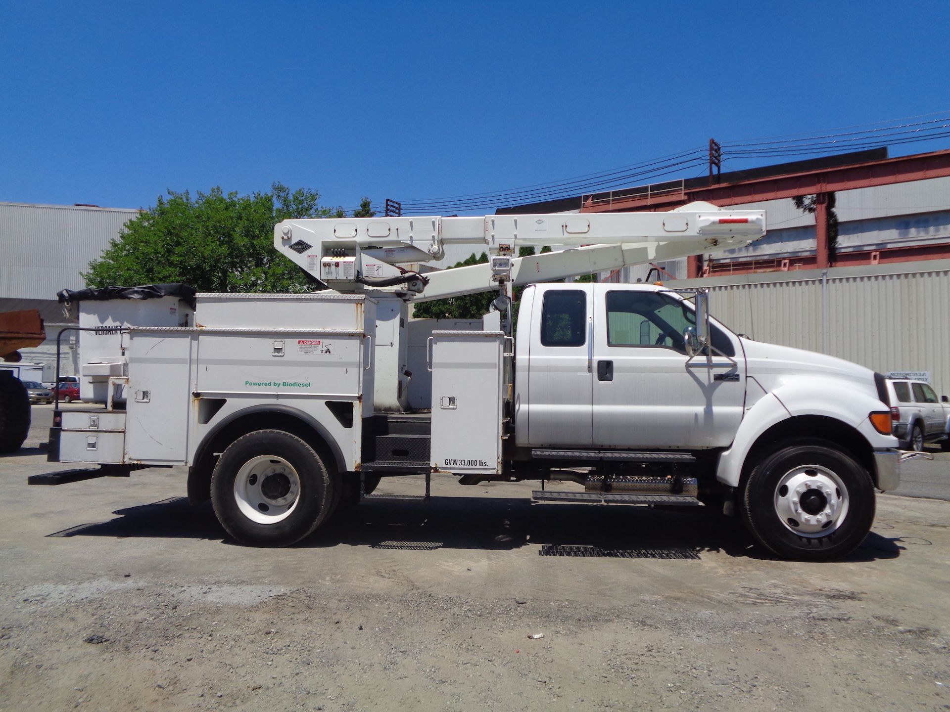
M200 291L303 291L306 275L274 249L274 226L290 217L342 217L307 188L274 183L238 196L219 187L197 197L168 191L125 223L83 273L86 285L184 282Z

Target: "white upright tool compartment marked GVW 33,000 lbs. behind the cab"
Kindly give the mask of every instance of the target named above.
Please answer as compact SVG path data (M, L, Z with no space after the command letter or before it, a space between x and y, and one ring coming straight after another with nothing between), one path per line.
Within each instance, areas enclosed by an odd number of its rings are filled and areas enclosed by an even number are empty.
M502 471L504 332L432 332L433 467Z

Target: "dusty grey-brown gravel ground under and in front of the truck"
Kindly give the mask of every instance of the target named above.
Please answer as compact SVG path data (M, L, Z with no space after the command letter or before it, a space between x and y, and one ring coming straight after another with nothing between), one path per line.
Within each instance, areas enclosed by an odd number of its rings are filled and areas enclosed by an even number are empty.
M702 511L437 479L259 550L178 468L27 487L62 469L42 439L0 458L0 709L950 709L950 502L881 496L816 565Z

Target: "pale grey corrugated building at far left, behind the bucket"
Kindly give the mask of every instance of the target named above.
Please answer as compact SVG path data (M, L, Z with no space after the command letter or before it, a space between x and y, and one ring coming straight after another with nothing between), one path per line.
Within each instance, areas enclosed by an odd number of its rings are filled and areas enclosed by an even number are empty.
M119 236L138 210L86 205L0 202L0 311L39 309L47 341L24 349L24 363L46 366L54 378L56 335L64 325L56 292L85 287L80 272ZM64 336L63 375L75 373L75 338Z

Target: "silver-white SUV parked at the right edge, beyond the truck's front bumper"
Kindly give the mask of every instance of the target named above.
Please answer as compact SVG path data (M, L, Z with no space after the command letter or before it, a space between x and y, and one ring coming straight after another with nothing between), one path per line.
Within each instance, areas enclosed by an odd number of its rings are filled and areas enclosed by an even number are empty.
M937 397L930 384L906 379L887 379L894 435L908 450L923 450L927 442L940 442L950 450L950 403Z

